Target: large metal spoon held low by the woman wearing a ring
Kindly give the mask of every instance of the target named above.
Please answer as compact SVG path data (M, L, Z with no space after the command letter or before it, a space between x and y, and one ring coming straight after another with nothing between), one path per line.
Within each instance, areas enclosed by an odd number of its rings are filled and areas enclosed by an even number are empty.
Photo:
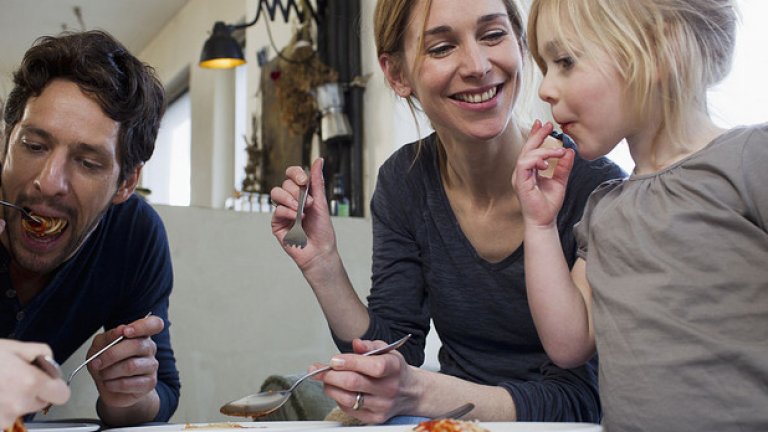
M383 348L368 351L363 355L372 356L372 355L386 354L392 350L396 350L400 348L405 343L405 341L407 341L410 337L411 335L407 334L398 341L392 342L391 344ZM291 397L291 394L293 393L293 391L296 390L299 384L304 382L304 380L329 370L331 370L330 366L322 367L320 369L314 370L312 372L309 372L306 375L301 376L287 390L278 390L278 391L270 390L266 392L248 395L223 405L219 409L219 411L225 415L240 416L240 417L265 416L273 411L276 411L278 408L280 408L286 402L288 402L288 399Z

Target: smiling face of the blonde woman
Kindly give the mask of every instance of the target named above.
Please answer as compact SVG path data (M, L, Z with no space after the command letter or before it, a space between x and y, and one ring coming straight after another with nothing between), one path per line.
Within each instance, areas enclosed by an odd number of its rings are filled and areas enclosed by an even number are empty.
M434 0L426 27L424 16L419 1L405 36L405 65L395 90L416 97L444 138L500 135L512 116L522 71L517 34L504 4Z

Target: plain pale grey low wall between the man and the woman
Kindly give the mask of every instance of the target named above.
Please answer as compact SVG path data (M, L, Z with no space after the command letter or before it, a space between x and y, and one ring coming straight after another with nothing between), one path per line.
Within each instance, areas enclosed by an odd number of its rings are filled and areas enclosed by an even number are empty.
M270 215L156 206L174 263L171 340L182 380L174 422L220 421L219 407L259 390L271 374L299 373L337 350L320 307L270 231ZM371 227L335 219L339 251L362 298L371 268ZM86 347L89 344L86 344ZM73 370L85 348L63 365ZM73 398L44 419L95 418L87 373Z

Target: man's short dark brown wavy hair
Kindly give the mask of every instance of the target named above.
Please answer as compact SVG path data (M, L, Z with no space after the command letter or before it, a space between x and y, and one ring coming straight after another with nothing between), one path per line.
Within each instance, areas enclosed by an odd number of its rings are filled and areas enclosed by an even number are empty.
M149 160L165 110L163 86L151 66L99 30L44 36L24 54L5 104L6 153L10 132L21 120L27 100L39 96L54 79L77 84L109 118L120 123L118 185Z

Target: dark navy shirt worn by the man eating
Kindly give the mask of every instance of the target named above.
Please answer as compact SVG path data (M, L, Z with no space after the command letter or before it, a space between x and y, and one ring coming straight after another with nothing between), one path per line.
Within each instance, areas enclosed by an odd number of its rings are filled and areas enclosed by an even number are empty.
M45 342L59 363L100 328L111 329L148 312L165 322L157 344L155 421L168 421L179 403L179 373L171 348L168 298L173 269L160 216L134 195L107 210L77 254L56 270L50 283L22 306L0 246L0 337Z

